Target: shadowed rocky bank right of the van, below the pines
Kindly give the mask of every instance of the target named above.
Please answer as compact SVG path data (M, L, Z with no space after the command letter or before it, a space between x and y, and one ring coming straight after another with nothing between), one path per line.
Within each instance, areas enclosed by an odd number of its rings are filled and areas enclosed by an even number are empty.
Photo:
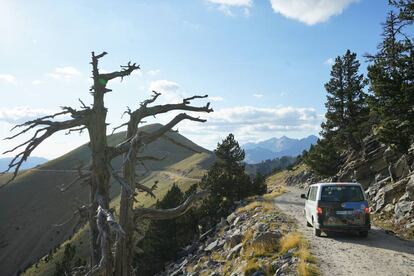
M346 151L332 178L322 179L305 165L286 173L282 182L304 188L319 181L357 181L365 189L373 223L401 238L414 240L414 144L401 154L368 137L360 151Z

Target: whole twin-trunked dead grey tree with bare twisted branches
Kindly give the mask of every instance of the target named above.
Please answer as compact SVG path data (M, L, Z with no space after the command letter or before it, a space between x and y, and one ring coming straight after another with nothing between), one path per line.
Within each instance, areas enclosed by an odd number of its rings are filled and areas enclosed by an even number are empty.
M189 102L195 98L204 98L195 96L189 99L185 99L183 103L178 105L163 105L147 107L148 104L155 101L156 97L144 101L141 107L134 112L130 112L130 121L128 122L127 137L124 142L117 146L109 146L107 143L107 123L106 115L107 109L104 105L104 96L106 93L112 90L107 88L109 81L121 78L121 80L129 76L133 71L140 69L139 65L130 62L126 66L121 66L119 71L111 73L100 73L98 68L99 59L104 57L107 53L103 52L99 55L95 55L92 52L92 78L93 85L90 88L90 93L93 96L93 104L86 106L82 101L79 110L71 107L62 107L62 111L38 118L32 121L28 121L21 125L17 125L13 128L22 128L18 133L5 138L6 140L14 139L20 135L34 132L33 136L25 142L17 145L11 150L5 153L16 152L15 157L10 162L8 171L12 171L12 178L9 182L13 181L19 169L24 161L30 156L41 143L53 134L60 131L67 131L68 133L75 131L87 130L89 134L89 147L91 149L91 165L89 167L90 172L81 176L81 182L88 182L91 186L90 189L90 204L89 208L89 226L90 226L90 241L91 241L91 267L88 269L88 275L127 275L123 271L125 267L114 266L114 255L112 249L114 248L114 241L112 234L115 233L117 236L116 248L124 246L127 239L132 238L130 235L131 222L136 221L140 217L154 217L154 218L167 218L180 215L185 212L191 204L203 196L205 193L200 192L190 197L181 206L170 209L170 210L153 210L153 209L139 209L134 210L135 213L130 212L132 210L132 203L134 197L134 190L136 188L141 189L142 187L135 183L135 165L139 161L136 157L137 149L155 141L157 138L164 135L167 131L171 130L175 125L183 120L192 120L198 122L204 122L204 120L192 117L185 113L176 116L165 126L154 131L153 133L142 133L138 131L138 124L141 120L148 116L154 116L156 114L165 113L170 110L188 110L198 112L211 112L209 104L206 107L198 108L189 106ZM159 94L155 94L159 95ZM70 116L70 119L60 120L59 116ZM111 160L115 157L124 155L124 177L119 177L111 167ZM122 212L122 224L119 224L109 209L110 197L110 179L111 176L121 184L122 186L122 198L123 203L121 204ZM125 179L125 180L124 180ZM69 184L69 186L72 184ZM4 187L4 186L3 186ZM84 211L84 210L83 210ZM125 230L122 226L125 226ZM123 263L120 260L122 258L129 258L130 256L125 254L125 250L117 249L116 252L121 257L116 258L117 264ZM126 264L130 264L128 260ZM121 269L122 272L118 272ZM128 268L129 269L129 268Z

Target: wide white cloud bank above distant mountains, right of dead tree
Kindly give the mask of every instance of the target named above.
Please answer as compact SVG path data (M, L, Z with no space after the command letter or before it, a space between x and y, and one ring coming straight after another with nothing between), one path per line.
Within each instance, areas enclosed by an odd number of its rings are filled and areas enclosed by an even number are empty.
M185 121L180 124L182 134L209 149L233 133L241 143L287 135L304 137L319 132L323 115L313 108L258 108L239 106L201 114L204 124Z

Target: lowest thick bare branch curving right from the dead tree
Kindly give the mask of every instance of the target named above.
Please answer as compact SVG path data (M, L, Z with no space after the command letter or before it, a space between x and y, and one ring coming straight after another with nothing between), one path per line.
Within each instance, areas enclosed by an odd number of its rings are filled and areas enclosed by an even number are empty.
M138 208L135 209L134 218L148 218L152 220L173 219L185 214L197 200L205 198L208 194L209 192L207 191L193 194L183 204L171 209Z

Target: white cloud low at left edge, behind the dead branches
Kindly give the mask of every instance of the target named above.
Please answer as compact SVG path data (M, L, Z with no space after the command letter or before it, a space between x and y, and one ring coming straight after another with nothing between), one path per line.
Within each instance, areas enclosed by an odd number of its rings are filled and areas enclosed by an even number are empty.
M54 114L56 111L42 108L30 108L27 106L0 108L0 121L10 124L20 124L46 115Z

